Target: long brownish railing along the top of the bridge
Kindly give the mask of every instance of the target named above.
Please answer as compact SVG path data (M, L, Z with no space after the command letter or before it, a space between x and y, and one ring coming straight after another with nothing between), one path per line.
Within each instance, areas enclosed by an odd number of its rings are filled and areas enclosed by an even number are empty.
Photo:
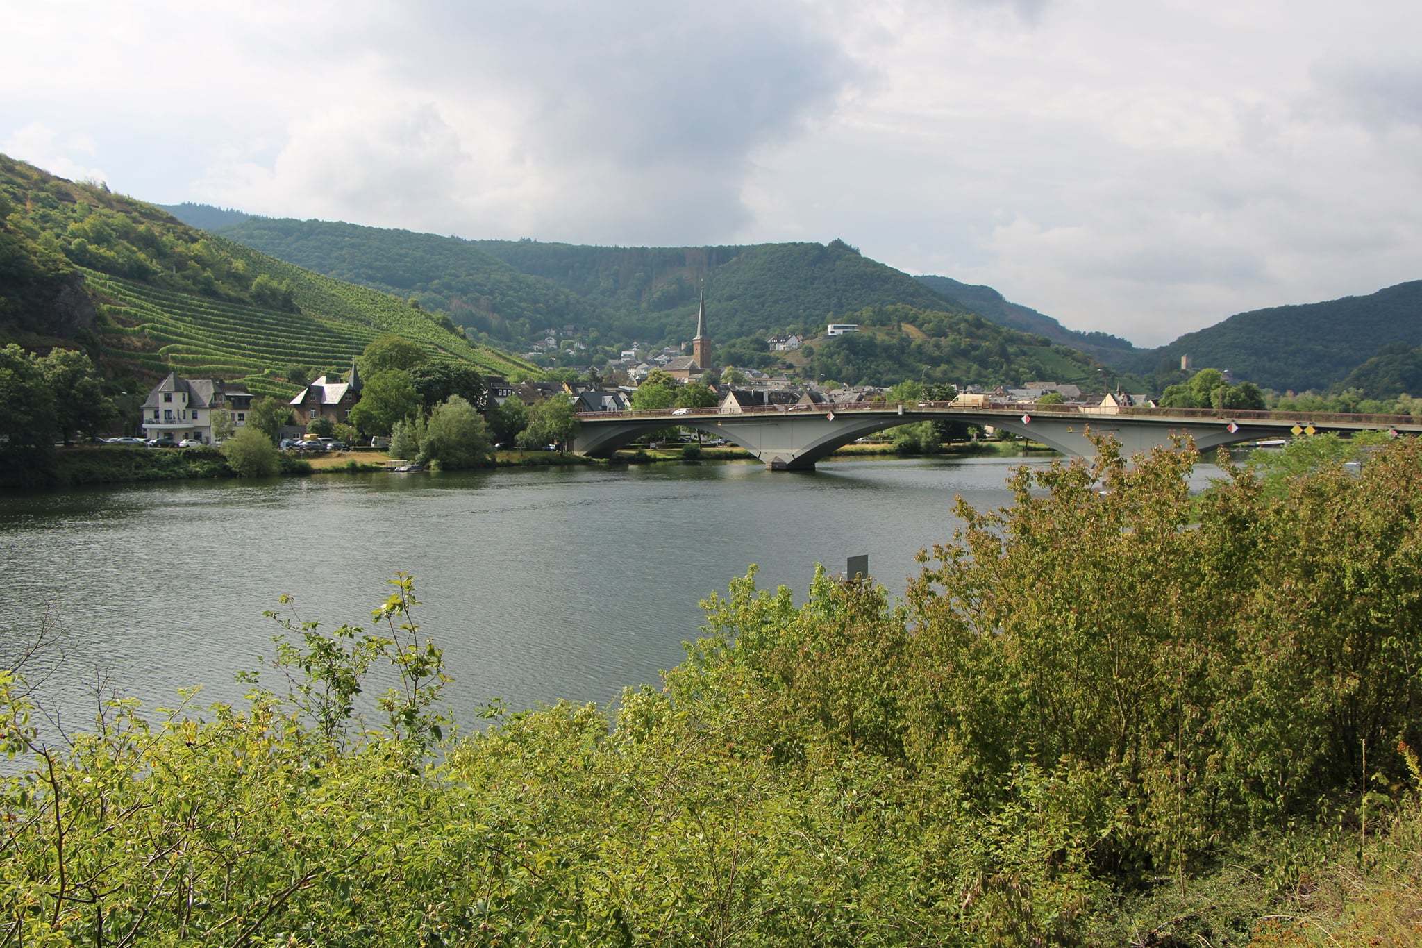
M828 415L850 412L879 412L879 414L917 414L921 411L944 412L950 415L983 415L1011 414L1034 416L1068 416L1068 418L1180 418L1220 422L1293 422L1298 425L1419 425L1422 421L1412 415L1362 415L1351 412L1278 412L1278 411L1250 411L1230 408L1146 408L1146 406L1101 406L1101 405L1035 405L1022 402L990 401L983 405L954 405L946 401L899 401L899 402L853 402L845 405L806 404L806 405L747 405L735 412L720 412L714 406L681 409L654 408L643 411L623 412L577 412L582 421L596 419L665 419L670 425L690 421L718 421L739 418L744 415Z

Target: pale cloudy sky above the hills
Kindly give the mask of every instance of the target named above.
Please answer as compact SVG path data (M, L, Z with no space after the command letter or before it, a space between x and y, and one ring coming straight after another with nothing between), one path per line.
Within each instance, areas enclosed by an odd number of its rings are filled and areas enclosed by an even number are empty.
M1422 279L1416 0L0 0L0 152L464 237L840 237L1158 345Z

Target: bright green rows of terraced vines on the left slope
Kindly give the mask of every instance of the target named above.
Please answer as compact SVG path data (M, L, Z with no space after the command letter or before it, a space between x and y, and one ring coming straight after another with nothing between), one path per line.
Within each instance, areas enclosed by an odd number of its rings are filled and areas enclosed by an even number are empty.
M292 395L297 388L280 375L289 365L346 371L365 345L385 333L412 337L432 358L474 361L495 374L523 368L502 352L475 348L444 331L427 314L412 313L398 327L381 325L368 308L353 316L321 316L303 306L300 311L267 310L242 303L181 293L134 280L84 270L109 333L134 337L134 345L111 345L109 352L144 375L181 374L246 379L249 388L266 395ZM311 303L316 303L314 300ZM395 316L404 316L391 300ZM417 334L427 323L432 333ZM421 335L445 337L435 343Z

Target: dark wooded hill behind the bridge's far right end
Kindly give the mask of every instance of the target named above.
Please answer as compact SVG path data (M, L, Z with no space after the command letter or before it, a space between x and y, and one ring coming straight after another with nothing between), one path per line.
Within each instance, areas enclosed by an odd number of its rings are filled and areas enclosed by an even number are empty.
M1422 345L1422 280L1368 296L1237 313L1135 358L1138 371L1179 365L1229 368L1278 391L1327 389L1341 382L1378 347Z

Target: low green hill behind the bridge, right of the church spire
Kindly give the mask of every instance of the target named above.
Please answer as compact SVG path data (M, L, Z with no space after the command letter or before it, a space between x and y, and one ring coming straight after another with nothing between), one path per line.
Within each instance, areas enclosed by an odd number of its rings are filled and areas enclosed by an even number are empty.
M809 374L849 385L903 379L971 385L1031 379L1101 389L1115 377L1089 357L1041 335L994 325L975 313L875 306L845 317L859 333L809 341Z

